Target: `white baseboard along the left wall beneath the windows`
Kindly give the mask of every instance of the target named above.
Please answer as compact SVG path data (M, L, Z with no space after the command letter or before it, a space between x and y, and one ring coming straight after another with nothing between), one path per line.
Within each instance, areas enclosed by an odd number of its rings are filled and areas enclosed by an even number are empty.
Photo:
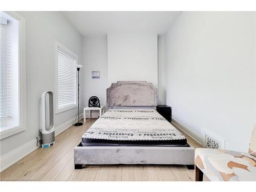
M82 113L79 114L79 120L83 118ZM70 119L69 121L60 124L59 126L55 127L55 136L59 135L63 131L67 130L75 121L75 117ZM20 159L24 158L34 150L36 150L38 146L36 145L36 138L15 148L15 150L10 151L9 153L1 156L1 163L0 163L0 172L3 172L6 168L13 165Z

